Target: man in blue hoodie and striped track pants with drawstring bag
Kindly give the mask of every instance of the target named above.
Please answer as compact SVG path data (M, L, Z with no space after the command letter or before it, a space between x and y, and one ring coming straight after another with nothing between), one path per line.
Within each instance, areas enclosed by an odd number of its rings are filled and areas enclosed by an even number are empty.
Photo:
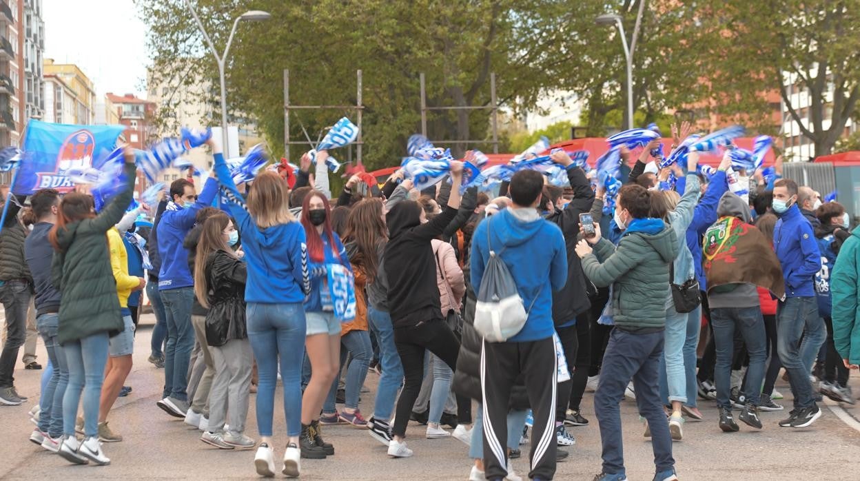
M508 400L520 375L535 420L529 477L552 479L556 473L552 441L558 353L552 293L568 281L568 259L562 230L537 212L543 188L540 172L517 172L508 186L513 205L485 219L472 237L470 280L479 289L474 326L484 336L483 461L488 479L507 476L502 443Z

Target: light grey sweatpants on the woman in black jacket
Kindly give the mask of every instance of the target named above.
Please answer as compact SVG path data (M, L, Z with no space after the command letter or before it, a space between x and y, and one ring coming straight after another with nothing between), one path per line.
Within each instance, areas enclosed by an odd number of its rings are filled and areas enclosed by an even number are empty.
M215 379L209 391L209 430L224 429L230 415L230 431L243 433L251 389L251 343L248 339L231 339L220 347L209 347L215 361Z

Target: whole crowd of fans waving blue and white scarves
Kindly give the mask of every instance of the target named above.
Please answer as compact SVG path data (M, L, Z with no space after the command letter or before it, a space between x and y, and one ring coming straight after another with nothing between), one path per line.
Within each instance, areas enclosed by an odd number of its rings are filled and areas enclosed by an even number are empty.
M85 188L6 196L0 403L27 401L13 372L32 300L49 363L29 439L71 463L110 464L102 443L123 439L108 417L131 392L144 290L157 319L149 361L164 373L157 406L212 447L256 448L263 477L298 477L301 459L335 455L322 427L341 423L367 429L390 457L413 456L412 420L428 439L468 445L470 480L521 479L511 459L525 443L527 477L549 480L595 391L595 480L626 479L626 397L652 442L654 479L671 481L673 441L703 420L700 400L716 400L724 432L738 421L765 429L760 412L783 410L784 367L793 406L779 427L815 422L822 395L855 402L860 231L839 202L778 169L767 181L734 172L727 153L705 176L690 152L660 170L654 144L632 169L622 149L613 200L563 151L550 157L567 190L520 170L494 199L461 192L455 161L433 188L402 171L382 188L353 176L329 200L311 187L310 156L292 188L272 170L236 185L218 142L207 144L211 176L173 182L151 226L137 221L148 206L127 209L132 151L127 185L103 205ZM677 182L660 188L670 171ZM747 182L748 192L733 186ZM362 405L369 371L378 386ZM279 381L286 427L275 429Z

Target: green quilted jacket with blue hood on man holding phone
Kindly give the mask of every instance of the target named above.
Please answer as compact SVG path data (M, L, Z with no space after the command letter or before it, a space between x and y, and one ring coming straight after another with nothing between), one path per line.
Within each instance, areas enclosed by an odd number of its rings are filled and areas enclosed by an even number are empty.
M630 329L666 326L669 262L678 236L661 219L634 219L616 248L605 238L582 258L582 270L597 287L612 286L615 325Z

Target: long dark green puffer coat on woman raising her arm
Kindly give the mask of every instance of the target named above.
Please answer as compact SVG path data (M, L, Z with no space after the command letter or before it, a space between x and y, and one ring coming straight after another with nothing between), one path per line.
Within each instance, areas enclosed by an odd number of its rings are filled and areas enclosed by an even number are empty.
M52 260L54 287L60 291L58 342L77 341L106 332L116 336L123 329L120 300L107 249L107 230L120 222L132 201L135 169L125 165L128 183L101 213L57 231L59 250Z

